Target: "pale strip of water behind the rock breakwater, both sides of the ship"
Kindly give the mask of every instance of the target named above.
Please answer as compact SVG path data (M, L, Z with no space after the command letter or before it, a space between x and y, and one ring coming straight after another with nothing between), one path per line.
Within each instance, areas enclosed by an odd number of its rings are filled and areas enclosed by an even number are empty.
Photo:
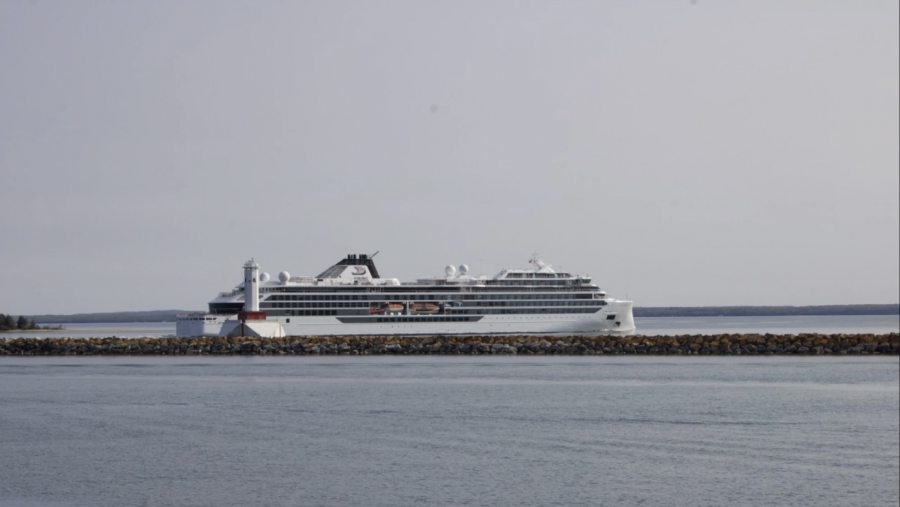
M635 319L638 332L660 334L721 333L896 333L900 315L809 316L809 317L667 317ZM61 331L2 333L0 337L86 338L118 336L174 336L174 322L119 324L64 324Z

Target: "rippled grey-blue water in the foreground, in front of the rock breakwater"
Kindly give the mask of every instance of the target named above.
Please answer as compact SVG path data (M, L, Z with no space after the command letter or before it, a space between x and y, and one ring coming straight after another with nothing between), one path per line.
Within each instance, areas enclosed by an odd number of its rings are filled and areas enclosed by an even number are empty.
M896 357L0 358L0 506L898 505Z

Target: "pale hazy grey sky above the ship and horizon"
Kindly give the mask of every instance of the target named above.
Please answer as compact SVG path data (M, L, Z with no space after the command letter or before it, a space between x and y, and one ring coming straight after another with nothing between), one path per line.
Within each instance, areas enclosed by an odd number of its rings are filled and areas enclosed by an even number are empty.
M255 258L636 306L900 300L898 3L0 2L0 313Z

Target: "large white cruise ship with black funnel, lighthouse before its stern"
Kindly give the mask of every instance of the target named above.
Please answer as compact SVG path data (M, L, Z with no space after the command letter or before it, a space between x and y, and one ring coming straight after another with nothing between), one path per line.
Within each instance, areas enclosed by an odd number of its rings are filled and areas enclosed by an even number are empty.
M376 252L377 254L377 252ZM534 256L529 269L493 278L463 264L444 276L381 278L375 255L348 255L317 276L277 280L250 260L244 281L179 315L177 336L428 334L629 334L632 302L609 297L588 276L557 272Z

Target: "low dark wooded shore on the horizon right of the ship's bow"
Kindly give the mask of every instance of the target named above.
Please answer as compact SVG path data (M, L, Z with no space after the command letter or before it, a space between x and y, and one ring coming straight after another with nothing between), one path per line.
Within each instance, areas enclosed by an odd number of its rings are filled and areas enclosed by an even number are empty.
M778 317L791 315L900 315L900 304L823 306L635 307L635 317Z

